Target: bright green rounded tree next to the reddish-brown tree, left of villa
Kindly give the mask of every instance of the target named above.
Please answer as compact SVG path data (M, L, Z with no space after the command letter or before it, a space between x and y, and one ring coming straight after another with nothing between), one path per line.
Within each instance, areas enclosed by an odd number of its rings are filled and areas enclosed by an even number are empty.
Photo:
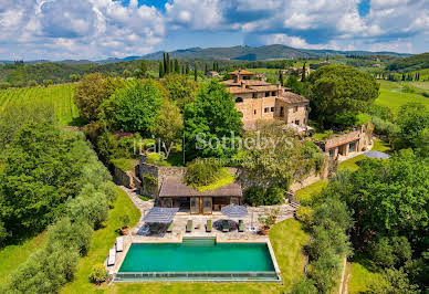
M111 129L150 134L157 113L163 105L164 93L157 82L136 81L125 88L119 88L103 106L103 119Z

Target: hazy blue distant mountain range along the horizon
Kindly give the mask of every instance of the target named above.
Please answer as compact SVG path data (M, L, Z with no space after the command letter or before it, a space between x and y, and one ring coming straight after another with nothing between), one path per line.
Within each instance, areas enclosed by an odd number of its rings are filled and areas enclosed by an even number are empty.
M165 51L158 51L149 53L143 56L127 56L124 59L111 57L100 61L88 60L64 60L59 61L65 64L108 64L125 62L132 60L161 60ZM265 46L230 46L230 48L189 48L182 50L176 50L168 52L170 59L179 60L236 60L236 61L269 61L280 59L305 59L305 57L323 57L328 55L393 55L393 56L409 56L411 54L397 53L397 52L370 52L370 51L338 51L338 50L308 50L308 49L295 49L286 45L265 45ZM25 63L45 63L50 61L28 61ZM13 61L0 61L0 63L8 64Z

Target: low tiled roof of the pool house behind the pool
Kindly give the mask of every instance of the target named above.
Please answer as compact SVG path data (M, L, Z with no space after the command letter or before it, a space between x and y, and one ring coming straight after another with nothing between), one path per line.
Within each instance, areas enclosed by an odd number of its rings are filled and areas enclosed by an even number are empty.
M242 197L243 192L238 182L231 182L211 191L200 192L186 186L181 178L167 178L159 191L159 197Z

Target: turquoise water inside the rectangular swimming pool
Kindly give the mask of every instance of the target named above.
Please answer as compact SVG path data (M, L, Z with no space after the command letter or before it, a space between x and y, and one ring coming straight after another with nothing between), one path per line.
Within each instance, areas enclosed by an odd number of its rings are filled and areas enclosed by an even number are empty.
M138 244L129 248L121 273L147 272L274 272L264 243L216 243L190 239L182 243Z

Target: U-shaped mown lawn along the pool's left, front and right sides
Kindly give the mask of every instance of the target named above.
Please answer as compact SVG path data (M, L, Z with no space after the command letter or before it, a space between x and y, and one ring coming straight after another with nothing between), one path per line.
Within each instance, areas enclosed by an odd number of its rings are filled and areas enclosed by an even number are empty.
M122 198L121 198L122 199ZM103 262L108 249L115 241L116 234L113 231L117 228L117 216L121 211L132 208L130 200L118 200L112 214L116 221L113 224L97 231L94 234L93 243L97 244L90 251L87 258L80 262L76 280L63 288L63 293L282 293L291 288L293 283L303 275L305 256L303 246L307 243L310 235L304 232L302 224L293 219L289 219L275 224L270 231L270 240L273 245L275 258L282 272L283 285L278 283L114 283L113 285L94 286L87 275L93 264ZM116 209L119 210L116 211ZM111 220L109 220L111 221ZM94 250L95 249L95 250Z

